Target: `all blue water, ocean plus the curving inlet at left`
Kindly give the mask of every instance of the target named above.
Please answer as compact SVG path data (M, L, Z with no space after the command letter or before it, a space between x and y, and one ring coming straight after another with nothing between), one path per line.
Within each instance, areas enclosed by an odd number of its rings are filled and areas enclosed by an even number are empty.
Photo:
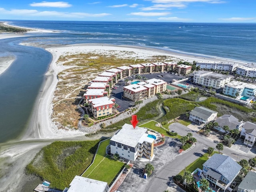
M21 46L21 42L135 45L256 62L256 24L27 20L9 23L59 33L35 33L0 40L0 57L16 56L10 68L0 75L0 143L17 138L26 129L51 61L50 53L44 49Z

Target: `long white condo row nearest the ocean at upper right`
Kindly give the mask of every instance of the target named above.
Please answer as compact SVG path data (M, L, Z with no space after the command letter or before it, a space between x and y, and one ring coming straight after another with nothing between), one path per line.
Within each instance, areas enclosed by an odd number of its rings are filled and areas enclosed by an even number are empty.
M224 62L196 62L196 67L200 69L214 69L222 71L234 71L238 67L238 63L224 63Z

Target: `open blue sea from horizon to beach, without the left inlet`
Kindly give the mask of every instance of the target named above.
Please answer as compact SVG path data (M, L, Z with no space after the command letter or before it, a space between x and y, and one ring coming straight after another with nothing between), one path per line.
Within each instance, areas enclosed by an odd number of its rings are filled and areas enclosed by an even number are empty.
M10 24L61 31L45 40L47 43L150 46L256 62L256 24L84 21L11 21Z

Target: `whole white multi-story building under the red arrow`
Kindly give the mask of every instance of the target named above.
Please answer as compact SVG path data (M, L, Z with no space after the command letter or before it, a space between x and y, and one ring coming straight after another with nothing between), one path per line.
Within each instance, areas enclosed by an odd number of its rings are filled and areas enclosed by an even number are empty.
M122 129L110 139L110 153L119 154L124 160L136 160L136 158L150 159L154 151L154 138L145 128L124 124Z

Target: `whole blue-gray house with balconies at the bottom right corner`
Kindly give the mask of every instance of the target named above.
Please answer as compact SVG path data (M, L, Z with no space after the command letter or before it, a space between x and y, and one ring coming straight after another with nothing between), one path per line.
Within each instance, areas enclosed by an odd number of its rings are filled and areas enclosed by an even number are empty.
M223 190L229 188L234 178L239 174L241 166L226 155L214 154L204 164L200 176L210 181L215 188L218 186Z

